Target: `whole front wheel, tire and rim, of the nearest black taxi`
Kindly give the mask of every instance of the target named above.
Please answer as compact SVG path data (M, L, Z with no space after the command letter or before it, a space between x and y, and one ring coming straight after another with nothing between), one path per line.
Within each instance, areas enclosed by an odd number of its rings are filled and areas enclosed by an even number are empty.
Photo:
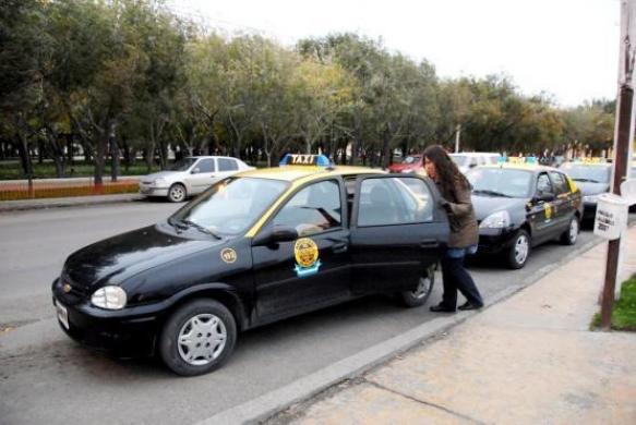
M214 319L218 319L216 326ZM200 329L201 332L194 333L194 326L209 326L211 329ZM211 332L206 335L207 330ZM217 332L217 339L212 331ZM187 333L191 333L191 337ZM225 342L220 342L221 335L225 335ZM190 350L188 344L179 343L180 336L183 339L188 337L189 344L195 345L194 350L205 353L199 354ZM230 311L218 301L199 299L182 305L170 315L164 324L158 348L161 360L172 372L181 376L197 376L223 365L232 353L236 341L237 325ZM190 360L187 359L189 355Z

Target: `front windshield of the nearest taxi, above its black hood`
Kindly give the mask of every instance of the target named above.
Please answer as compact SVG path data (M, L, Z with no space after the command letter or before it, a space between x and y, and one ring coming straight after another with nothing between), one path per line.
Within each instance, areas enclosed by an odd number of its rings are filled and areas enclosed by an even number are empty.
M169 222L191 224L216 235L238 234L263 216L288 184L271 179L229 178L175 212Z

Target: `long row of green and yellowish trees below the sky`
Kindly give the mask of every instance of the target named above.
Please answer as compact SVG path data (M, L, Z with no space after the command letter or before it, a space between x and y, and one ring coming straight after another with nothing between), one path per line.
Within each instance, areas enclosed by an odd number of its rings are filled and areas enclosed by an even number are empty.
M111 160L146 170L180 155L272 162L285 150L387 166L461 127L465 150L600 153L614 105L561 110L512 78L441 80L380 40L334 34L295 49L260 36L223 37L160 0L5 0L0 3L0 157L36 151L56 175L82 148L101 179ZM347 158L346 154L350 157Z

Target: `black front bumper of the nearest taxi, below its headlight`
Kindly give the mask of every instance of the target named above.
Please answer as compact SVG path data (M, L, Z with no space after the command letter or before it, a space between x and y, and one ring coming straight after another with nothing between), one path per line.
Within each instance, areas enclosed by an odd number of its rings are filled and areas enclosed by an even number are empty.
M91 305L88 300L67 294L59 279L52 284L53 303L68 312L67 328L62 330L75 341L118 356L144 356L154 353L159 330L159 312L155 306L106 311Z

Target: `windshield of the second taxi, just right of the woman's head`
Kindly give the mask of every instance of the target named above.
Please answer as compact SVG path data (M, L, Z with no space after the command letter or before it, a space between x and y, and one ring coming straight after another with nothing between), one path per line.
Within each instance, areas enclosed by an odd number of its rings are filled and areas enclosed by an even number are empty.
M476 195L527 197L532 172L505 168L475 168L466 177Z

